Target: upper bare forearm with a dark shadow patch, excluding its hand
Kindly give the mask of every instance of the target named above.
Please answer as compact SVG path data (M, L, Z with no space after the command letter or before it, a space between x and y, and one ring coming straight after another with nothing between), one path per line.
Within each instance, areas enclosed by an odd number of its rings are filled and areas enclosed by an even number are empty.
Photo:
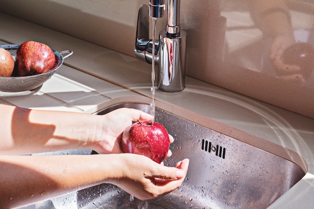
M26 154L88 146L97 123L93 115L30 110L1 105L0 154ZM88 147L86 147L88 148Z

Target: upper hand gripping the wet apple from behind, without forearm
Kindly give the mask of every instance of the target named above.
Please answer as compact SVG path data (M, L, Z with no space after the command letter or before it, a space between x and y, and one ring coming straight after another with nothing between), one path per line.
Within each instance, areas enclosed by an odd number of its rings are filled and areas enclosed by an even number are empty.
M122 153L120 142L122 139L122 132L125 128L132 124L132 121L151 121L152 115L136 109L120 108L109 112L102 117L102 133L99 140L94 142L96 144L93 148L98 153ZM174 138L169 135L170 143ZM167 157L171 156L169 150Z

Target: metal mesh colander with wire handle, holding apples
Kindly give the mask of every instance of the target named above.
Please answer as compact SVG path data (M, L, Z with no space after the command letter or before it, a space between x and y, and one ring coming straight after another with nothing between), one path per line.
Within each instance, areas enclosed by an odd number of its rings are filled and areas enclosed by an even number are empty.
M9 44L0 45L0 48L4 48L9 51L14 60L16 59L16 53L20 45ZM73 51L66 50L62 52L57 52L53 50L56 56L55 66L47 73L42 73L33 76L21 76L21 77L1 77L0 76L0 91L3 92L22 92L29 91L40 87L45 81L51 78L51 76L57 71L57 69L63 64L63 60L70 57ZM68 54L62 56L62 54Z

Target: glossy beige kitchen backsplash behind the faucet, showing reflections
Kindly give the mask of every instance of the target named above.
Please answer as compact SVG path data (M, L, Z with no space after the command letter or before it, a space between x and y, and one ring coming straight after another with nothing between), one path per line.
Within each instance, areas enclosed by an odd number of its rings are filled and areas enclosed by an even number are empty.
M148 0L1 4L2 12L134 56L137 13ZM187 75L314 118L314 59L306 61L314 52L297 66L289 55L298 42L309 45L301 51L314 46L313 21L314 0L182 0Z

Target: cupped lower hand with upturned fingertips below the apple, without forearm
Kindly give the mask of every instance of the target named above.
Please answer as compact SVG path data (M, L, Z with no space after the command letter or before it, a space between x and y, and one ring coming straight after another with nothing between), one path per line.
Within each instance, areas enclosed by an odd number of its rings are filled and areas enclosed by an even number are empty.
M138 199L146 200L166 195L177 189L187 174L189 159L167 167L143 155L119 154L122 172L112 179L113 184ZM119 170L119 169L118 169Z

